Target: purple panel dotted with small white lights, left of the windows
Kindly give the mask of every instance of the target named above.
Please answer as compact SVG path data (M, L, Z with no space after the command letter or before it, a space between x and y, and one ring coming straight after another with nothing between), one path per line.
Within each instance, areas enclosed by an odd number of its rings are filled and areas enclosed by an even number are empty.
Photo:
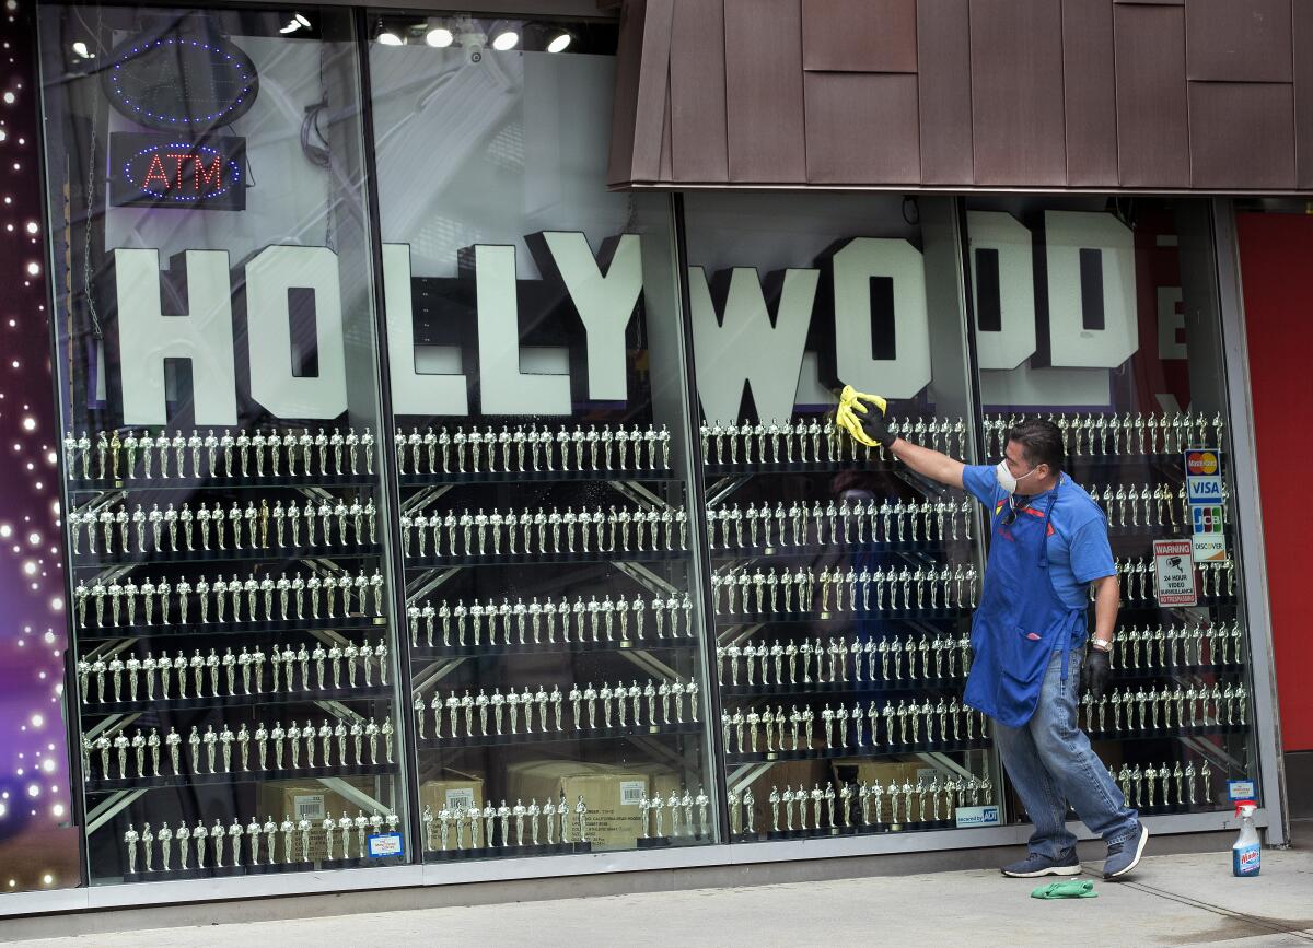
M0 25L0 892L77 885L34 5Z

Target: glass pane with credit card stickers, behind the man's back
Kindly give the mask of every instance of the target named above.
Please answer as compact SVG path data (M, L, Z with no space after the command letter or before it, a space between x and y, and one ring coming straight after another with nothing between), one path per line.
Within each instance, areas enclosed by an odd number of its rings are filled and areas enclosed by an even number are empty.
M1053 420L1120 578L1113 678L1081 725L1141 813L1230 809L1258 768L1207 205L968 206L986 458Z

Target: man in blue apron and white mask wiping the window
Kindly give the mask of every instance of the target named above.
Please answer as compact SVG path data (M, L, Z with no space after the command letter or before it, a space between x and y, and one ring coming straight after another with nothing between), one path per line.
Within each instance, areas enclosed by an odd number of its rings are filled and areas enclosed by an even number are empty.
M1003 867L1003 874L1081 872L1065 822L1070 804L1108 844L1104 878L1124 877L1140 863L1149 830L1077 725L1081 693L1103 697L1117 621L1120 592L1103 511L1064 473L1062 433L1050 421L1015 425L997 466L966 465L894 436L886 407L885 399L847 386L835 425L860 444L884 445L923 477L964 487L990 515L964 699L991 720L1003 765L1035 825L1025 859Z

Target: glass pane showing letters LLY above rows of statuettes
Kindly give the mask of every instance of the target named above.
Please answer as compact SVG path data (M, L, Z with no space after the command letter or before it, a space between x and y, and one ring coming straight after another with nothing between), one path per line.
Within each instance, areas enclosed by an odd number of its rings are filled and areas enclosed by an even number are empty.
M370 22L425 859L710 840L670 210L605 189L614 30Z

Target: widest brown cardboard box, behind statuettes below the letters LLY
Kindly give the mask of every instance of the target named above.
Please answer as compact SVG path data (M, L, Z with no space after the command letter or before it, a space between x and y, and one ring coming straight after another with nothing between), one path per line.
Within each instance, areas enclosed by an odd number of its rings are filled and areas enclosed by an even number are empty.
M588 842L593 850L632 850L642 835L638 801L647 794L647 775L639 768L608 767L571 760L534 760L507 768L507 801L557 801L563 794L574 818L575 802L588 808ZM578 839L578 825L571 825Z

